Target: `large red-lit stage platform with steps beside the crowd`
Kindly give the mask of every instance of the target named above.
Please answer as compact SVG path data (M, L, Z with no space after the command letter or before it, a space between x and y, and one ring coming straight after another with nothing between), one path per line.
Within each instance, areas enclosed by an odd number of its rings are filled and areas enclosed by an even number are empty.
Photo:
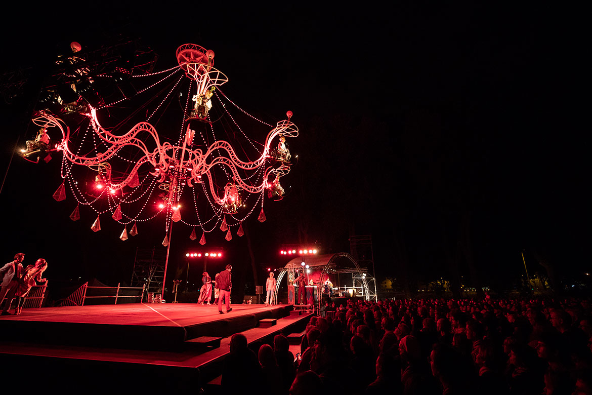
M244 333L256 352L278 333L301 332L311 315L292 311L291 305L231 307L224 314L217 306L197 304L27 309L0 318L0 361L14 366L17 375L28 365L43 366L48 370L41 376L56 389L108 378L125 381L119 385L126 391L165 389L171 380L176 388L196 391L220 375L234 333ZM259 326L260 320L265 325ZM220 346L188 342L202 336L217 338ZM67 372L69 381L57 380L58 372L59 377Z

